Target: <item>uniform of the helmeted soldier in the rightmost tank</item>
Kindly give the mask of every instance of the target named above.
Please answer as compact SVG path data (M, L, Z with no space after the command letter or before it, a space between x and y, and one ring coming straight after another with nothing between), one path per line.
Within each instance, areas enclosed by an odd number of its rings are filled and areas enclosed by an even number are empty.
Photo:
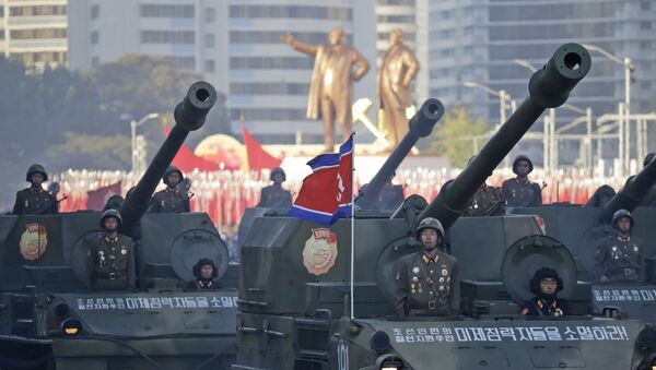
M612 283L642 283L645 281L644 242L637 237L617 234L604 239L597 247L594 274L606 276Z

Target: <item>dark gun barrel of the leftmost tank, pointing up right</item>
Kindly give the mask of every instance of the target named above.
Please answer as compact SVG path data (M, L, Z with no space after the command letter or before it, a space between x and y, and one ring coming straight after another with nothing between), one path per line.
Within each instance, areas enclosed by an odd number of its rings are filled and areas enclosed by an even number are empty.
M164 140L134 191L126 198L119 208L122 216L121 232L131 236L134 225L148 210L151 196L166 168L171 166L189 132L198 130L204 124L206 117L215 102L214 87L204 81L199 81L189 87L183 102L175 107L175 127L171 130L168 138Z

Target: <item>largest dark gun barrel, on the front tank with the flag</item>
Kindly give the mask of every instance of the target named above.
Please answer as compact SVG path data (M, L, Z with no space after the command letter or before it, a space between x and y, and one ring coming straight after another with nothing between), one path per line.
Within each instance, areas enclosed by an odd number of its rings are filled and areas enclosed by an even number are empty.
M589 52L583 46L565 44L559 47L547 64L530 77L529 96L494 133L479 155L429 204L418 222L435 217L445 229L450 227L477 189L492 175L544 109L559 107L567 100L570 92L588 73L590 64Z

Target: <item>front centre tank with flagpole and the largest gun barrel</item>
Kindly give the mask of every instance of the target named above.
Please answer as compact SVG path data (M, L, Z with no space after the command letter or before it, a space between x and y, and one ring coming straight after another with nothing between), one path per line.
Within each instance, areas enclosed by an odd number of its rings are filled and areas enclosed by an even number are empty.
M548 107L563 104L590 68L561 46L534 74L530 97L450 187L423 210L409 198L394 217L356 213L331 227L286 217L255 220L242 250L237 363L233 369L635 369L651 366L655 334L635 320L591 313L590 285L572 254L532 215L459 217L476 189ZM415 219L407 219L407 217ZM438 216L459 263L462 315L398 318L395 265L417 251L409 224ZM473 231L476 230L476 232ZM353 262L351 263L351 255ZM528 276L552 266L575 317L526 320ZM257 271L254 274L253 271ZM352 275L351 275L352 272ZM352 284L351 282L352 278ZM525 283L525 284L523 284ZM610 315L610 314L609 314ZM636 341L636 338L639 341ZM641 339L642 338L642 339Z

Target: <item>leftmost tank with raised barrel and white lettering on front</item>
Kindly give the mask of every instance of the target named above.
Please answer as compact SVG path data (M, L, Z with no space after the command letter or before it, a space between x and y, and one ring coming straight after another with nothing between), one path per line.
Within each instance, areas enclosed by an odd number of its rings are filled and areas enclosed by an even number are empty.
M204 213L145 213L215 99L209 83L191 85L175 109L175 128L120 207L121 231L140 231L140 289L90 289L87 250L101 235L99 213L0 216L0 368L220 369L233 362L236 268L218 230ZM185 291L200 258L214 260L221 289Z

